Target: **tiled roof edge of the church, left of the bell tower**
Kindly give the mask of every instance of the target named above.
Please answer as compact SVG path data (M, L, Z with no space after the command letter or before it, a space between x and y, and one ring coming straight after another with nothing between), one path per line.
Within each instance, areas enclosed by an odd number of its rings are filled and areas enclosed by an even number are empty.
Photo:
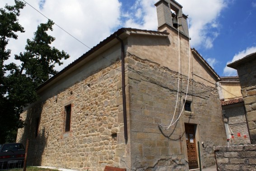
M58 76L61 76L61 74L63 74L64 72L68 71L70 68L74 67L79 62L83 61L85 58L88 58L88 56L95 53L98 49L102 48L107 43L116 39L116 36L120 36L122 33L125 33L127 31L129 31L130 33L137 33L137 34L143 34L144 33L144 34L148 34L148 35L159 35L159 36L161 36L161 35L168 36L169 35L168 32L164 32L164 31L150 31L150 30L141 30L141 29L135 29L135 28L120 28L116 32L114 32L112 35L108 36L105 40L102 40L98 45L96 45L93 48L91 48L90 50L88 50L88 52L83 54L81 57L76 59L74 62L70 63L68 66L66 66L64 69L62 69L60 72L58 72L56 75L52 76L49 80L44 82L42 85L37 87L37 90L40 90L42 87L49 84L51 81L56 79Z

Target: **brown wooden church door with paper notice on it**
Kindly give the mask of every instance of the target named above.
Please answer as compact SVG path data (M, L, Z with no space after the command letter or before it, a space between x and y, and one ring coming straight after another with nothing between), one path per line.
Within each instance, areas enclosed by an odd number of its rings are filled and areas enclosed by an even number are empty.
M195 125L185 124L186 132L186 148L188 157L189 169L197 169L197 151L196 151L196 141L195 141Z

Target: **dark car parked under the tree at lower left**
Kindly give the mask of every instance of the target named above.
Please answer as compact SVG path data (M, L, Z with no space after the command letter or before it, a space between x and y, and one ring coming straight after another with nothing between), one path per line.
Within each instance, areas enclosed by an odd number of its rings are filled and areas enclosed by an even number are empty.
M21 143L0 145L0 170L21 168L25 158L25 148Z

